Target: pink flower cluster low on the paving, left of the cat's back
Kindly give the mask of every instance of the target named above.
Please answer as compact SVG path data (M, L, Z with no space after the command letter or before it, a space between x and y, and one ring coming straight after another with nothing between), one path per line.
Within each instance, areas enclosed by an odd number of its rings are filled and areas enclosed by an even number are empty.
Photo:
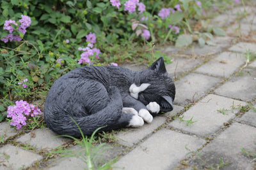
M28 116L34 117L42 113L38 106L29 104L26 101L16 101L15 104L14 106L8 106L7 117L12 118L10 125L16 126L17 129L27 124L26 120Z

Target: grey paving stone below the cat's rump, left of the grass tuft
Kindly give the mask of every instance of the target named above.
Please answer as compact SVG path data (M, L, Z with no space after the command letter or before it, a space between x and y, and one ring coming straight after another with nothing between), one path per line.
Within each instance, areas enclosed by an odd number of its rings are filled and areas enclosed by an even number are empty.
M20 138L17 139L17 141L24 144L28 144L38 149L52 149L57 148L63 143L71 140L69 138L56 136L58 136L58 134L52 132L48 128L36 129L36 131L29 132L28 134L21 136Z

